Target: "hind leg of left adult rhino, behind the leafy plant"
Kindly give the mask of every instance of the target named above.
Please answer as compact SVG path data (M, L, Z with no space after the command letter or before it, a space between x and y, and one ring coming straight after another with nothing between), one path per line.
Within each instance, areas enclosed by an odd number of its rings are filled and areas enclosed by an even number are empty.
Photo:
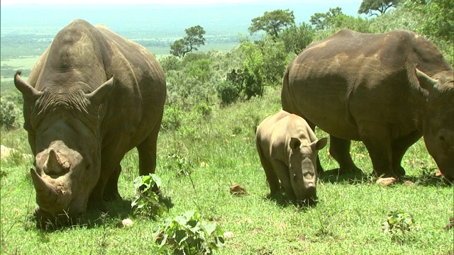
M157 133L159 132L160 125L157 125L148 137L137 146L139 154L139 175L145 176L148 174L155 174L156 169L156 150L157 150ZM152 189L155 193L160 195L161 191L157 186Z

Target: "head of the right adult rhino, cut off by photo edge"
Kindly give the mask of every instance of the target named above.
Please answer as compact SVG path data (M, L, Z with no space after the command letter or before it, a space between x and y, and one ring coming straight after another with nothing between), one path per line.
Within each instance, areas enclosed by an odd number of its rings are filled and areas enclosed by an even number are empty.
M433 77L416 69L423 92L422 131L427 151L446 179L454 180L454 74Z

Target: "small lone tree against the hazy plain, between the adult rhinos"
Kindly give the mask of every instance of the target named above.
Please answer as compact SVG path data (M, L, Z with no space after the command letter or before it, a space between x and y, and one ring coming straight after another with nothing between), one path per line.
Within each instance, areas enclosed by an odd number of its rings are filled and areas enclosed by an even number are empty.
M201 26L192 26L184 30L186 36L176 40L170 45L170 54L177 57L184 57L187 52L199 50L197 47L205 45L205 30Z

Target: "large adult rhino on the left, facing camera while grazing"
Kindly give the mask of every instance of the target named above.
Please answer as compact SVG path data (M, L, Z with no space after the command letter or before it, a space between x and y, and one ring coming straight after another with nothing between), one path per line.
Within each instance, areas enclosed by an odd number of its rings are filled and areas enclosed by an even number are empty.
M75 20L57 33L28 82L19 74L38 215L74 217L87 204L105 209L104 200L121 199L120 162L134 147L139 174L154 173L166 87L145 47Z

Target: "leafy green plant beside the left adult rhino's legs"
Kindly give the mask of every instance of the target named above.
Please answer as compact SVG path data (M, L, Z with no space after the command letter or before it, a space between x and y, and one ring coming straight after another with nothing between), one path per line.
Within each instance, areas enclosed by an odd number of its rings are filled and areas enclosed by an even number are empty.
M135 215L143 217L160 217L167 210L164 203L160 201L160 197L151 190L153 186L160 188L162 181L156 174L148 174L148 176L138 176L134 180L134 188L137 192L131 207Z

